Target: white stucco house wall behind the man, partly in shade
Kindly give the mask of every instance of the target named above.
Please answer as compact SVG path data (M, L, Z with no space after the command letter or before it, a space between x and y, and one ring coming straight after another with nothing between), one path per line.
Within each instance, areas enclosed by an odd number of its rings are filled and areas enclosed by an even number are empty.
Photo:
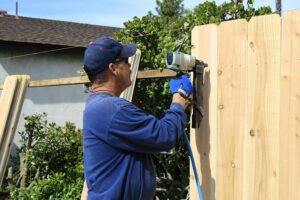
M0 83L4 82L7 75L13 74L28 74L31 80L79 76L83 49L8 58L44 50L44 47L10 47L0 44ZM24 130L24 115L42 112L48 114L49 122L63 125L69 121L75 123L78 128L82 128L82 113L86 96L83 85L28 88L17 131ZM19 137L16 132L14 143L18 144L18 141Z

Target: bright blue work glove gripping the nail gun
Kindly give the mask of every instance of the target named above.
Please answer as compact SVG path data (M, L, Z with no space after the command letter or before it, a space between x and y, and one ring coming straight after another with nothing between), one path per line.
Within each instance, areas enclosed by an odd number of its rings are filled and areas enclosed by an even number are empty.
M193 92L192 83L187 75L182 75L179 79L171 79L170 81L171 94L179 93L187 99Z

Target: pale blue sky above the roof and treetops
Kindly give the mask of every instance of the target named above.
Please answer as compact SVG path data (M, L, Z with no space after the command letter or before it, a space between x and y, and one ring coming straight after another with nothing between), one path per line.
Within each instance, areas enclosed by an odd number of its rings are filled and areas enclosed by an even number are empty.
M148 11L156 13L155 0L0 0L0 10L19 16L87 23L103 26L124 27L123 23L134 16L142 17ZM230 1L230 0L227 0ZM184 0L184 7L193 9L200 0ZM217 4L225 2L216 0ZM246 0L245 0L246 2ZM254 7L270 6L275 10L275 0L255 0ZM283 14L288 10L300 9L299 0L282 0ZM1 28L1 27L0 27Z

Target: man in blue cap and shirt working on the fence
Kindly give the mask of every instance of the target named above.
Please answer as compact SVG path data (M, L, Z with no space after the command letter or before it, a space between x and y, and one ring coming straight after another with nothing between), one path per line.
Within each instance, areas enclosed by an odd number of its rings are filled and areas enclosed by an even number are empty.
M184 131L186 98L192 92L186 76L170 82L172 104L161 119L119 97L131 84L128 58L135 52L135 44L99 38L84 54L92 83L83 119L88 199L153 199L151 154L173 148Z

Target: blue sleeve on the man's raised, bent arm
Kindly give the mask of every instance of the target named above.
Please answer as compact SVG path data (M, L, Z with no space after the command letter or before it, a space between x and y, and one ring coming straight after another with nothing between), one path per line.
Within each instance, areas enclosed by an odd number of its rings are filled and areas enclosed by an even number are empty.
M161 119L146 115L133 104L128 104L113 116L107 142L134 152L167 151L179 141L185 123L186 114L178 103L172 103Z

